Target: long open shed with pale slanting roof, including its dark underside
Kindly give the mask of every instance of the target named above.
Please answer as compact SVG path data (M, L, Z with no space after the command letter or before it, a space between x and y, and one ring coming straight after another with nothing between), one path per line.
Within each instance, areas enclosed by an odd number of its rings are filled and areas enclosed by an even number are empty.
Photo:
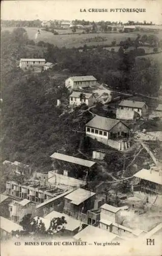
M68 156L57 152L53 153L50 158L52 159L52 167L56 173L67 177L86 181L95 172L96 162L94 161ZM55 179L56 176L53 175L53 181ZM49 181L52 182L52 178Z

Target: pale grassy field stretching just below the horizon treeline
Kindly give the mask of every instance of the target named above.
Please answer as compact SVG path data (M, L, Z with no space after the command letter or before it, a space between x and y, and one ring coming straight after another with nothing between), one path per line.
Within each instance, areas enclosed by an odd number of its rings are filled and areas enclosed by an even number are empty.
M12 31L14 27L5 27L2 28L2 30L9 30ZM144 34L144 32L132 32L132 33L94 33L94 34L64 34L63 33L70 33L71 30L58 30L59 35L53 35L51 32L47 32L44 30L41 30L41 34L38 35L37 39L35 39L36 33L38 32L38 28L25 28L28 32L29 38L35 40L35 42L38 41L45 41L49 42L50 44L53 44L58 47L80 47L85 44L88 46L92 45L111 45L111 42L116 39L117 44L121 40L125 40L126 38L130 37L131 39L134 39L137 37L137 34ZM78 32L78 31L77 31ZM153 33L153 32L152 32ZM148 34L148 33L147 33ZM102 36L106 38L106 41L101 42L85 42L87 38L92 38L96 36ZM157 34L158 36L158 34ZM162 37L162 33L159 34L159 38Z

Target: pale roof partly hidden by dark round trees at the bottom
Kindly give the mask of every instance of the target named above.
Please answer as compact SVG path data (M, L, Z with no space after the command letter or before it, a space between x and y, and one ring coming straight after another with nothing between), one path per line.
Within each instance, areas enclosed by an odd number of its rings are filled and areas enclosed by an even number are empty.
M53 218L61 218L62 216L65 217L65 220L67 221L67 224L64 224L65 229L73 231L80 226L80 221L75 220L64 213L55 210L51 211L50 214L47 214L44 218L50 221Z

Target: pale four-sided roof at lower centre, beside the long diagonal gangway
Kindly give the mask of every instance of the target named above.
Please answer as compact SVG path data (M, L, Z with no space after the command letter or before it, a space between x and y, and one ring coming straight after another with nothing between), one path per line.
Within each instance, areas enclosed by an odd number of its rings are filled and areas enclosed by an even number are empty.
M78 188L72 193L65 196L65 198L71 200L72 204L79 205L94 195L96 195L94 192L83 188Z

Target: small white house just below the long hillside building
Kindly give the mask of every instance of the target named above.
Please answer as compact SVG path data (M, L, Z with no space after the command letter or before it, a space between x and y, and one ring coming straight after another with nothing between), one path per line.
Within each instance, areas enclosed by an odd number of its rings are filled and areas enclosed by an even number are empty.
M70 105L80 105L85 103L86 105L90 105L95 101L95 96L92 93L80 93L80 92L72 92L69 96L69 104Z

